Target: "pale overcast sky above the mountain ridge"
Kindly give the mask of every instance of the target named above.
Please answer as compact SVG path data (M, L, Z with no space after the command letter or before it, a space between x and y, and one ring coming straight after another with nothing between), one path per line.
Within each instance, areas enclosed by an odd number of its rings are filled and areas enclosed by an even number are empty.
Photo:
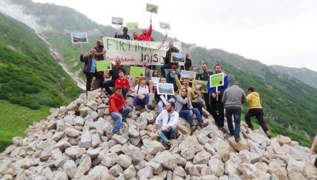
M159 5L153 28L171 25L169 37L219 48L265 64L317 71L317 0L33 0L65 5L97 23L111 16L150 23L146 3Z

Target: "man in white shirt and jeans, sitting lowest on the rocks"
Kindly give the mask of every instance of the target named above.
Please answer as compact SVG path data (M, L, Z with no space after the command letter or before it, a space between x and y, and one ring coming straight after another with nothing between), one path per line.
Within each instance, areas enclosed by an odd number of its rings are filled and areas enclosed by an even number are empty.
M172 148L172 143L167 137L170 137L171 139L176 138L177 121L179 115L176 111L174 111L174 108L175 103L168 102L166 110L163 110L155 120L154 132L158 132L159 138L162 139L163 144L165 144L168 149ZM160 121L162 121L162 126L158 130Z

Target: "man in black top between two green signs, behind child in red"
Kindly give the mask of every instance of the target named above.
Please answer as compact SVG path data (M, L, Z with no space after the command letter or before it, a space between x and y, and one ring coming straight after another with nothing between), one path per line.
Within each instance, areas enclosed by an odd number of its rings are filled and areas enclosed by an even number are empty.
M106 89L106 93L108 95L111 95L112 92L110 90L110 87L113 87L114 86L114 83L115 83L115 80L119 77L119 71L122 70L123 73L124 73L124 79L126 78L126 71L125 69L123 68L121 64L121 60L119 59L116 59L115 60L115 65L112 65L112 70L109 71L109 76L111 76L111 79L109 80L106 80L104 83L103 83L103 88Z

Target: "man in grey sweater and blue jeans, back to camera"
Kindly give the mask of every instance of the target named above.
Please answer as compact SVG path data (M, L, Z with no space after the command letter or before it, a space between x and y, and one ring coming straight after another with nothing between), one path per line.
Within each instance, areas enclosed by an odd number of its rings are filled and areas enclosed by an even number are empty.
M240 141L240 117L242 103L247 102L247 96L244 91L236 84L230 86L223 92L222 103L226 109L226 118L231 135L234 135L236 142ZM234 129L232 124L232 115L234 118Z

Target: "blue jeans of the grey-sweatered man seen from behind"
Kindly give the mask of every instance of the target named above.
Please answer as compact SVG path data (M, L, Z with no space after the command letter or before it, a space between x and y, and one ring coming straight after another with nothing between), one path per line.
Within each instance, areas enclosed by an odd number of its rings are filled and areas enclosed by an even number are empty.
M232 124L232 115L234 118L234 130ZM228 127L231 135L234 135L235 138L239 138L240 135L240 117L241 117L241 108L226 108L226 118L228 122Z

